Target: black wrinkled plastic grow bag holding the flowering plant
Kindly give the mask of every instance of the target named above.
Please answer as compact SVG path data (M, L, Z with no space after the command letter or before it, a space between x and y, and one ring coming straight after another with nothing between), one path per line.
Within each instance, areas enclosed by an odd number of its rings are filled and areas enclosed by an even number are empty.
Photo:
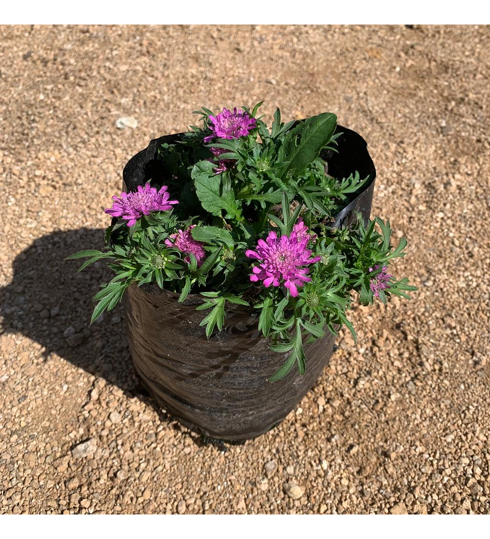
M345 177L359 171L372 181L339 215L335 226L349 222L353 211L369 218L376 171L366 143L357 133L338 127L339 154L326 155L328 173ZM178 135L161 137L136 154L124 171L124 187L133 190L162 174L156 150ZM190 294L178 294L155 284L129 287L125 298L129 348L144 384L172 416L212 438L241 441L254 438L280 423L312 388L328 364L335 336L305 345L306 374L296 366L277 382L267 382L288 354L274 353L258 331L258 311L244 306L227 310L225 327L208 340L199 323L207 312Z

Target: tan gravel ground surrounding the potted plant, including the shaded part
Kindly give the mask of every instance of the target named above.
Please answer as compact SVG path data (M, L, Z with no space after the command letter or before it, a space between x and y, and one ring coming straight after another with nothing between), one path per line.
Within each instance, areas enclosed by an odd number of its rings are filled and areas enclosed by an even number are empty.
M488 27L0 28L0 513L490 513ZM367 139L419 291L355 309L357 345L223 451L142 394L121 307L89 326L106 269L62 259L151 138L261 100Z

